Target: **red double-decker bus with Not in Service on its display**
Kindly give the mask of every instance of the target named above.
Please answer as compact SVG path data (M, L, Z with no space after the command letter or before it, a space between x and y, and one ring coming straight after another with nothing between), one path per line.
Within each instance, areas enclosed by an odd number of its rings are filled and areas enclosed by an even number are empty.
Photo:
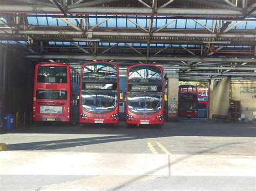
M80 123L119 123L118 65L84 63L80 88Z

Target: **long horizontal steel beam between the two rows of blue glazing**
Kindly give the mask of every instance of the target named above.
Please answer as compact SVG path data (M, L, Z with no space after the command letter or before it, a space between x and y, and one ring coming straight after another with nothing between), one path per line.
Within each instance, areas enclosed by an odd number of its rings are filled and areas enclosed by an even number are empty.
M10 34L15 34L12 30L5 30ZM148 32L111 32L111 31L57 31L57 30L19 30L19 34L49 34L49 35L88 35L92 33L93 36L136 36L136 37L149 37ZM5 32L0 31L0 34L5 34ZM256 34L248 33L228 33L228 34L214 34L214 33L184 33L184 32L158 32L153 33L153 37L202 37L202 38L251 38L255 39Z

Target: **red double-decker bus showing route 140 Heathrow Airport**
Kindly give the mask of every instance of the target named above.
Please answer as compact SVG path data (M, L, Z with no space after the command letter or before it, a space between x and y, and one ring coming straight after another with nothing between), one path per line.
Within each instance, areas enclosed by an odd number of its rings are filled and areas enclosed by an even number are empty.
M163 68L149 64L128 67L126 91L127 126L164 124Z

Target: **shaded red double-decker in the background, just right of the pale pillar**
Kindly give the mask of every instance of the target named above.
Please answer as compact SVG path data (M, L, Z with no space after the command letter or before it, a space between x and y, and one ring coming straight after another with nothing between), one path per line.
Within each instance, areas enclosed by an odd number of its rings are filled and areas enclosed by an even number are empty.
M197 86L184 84L179 86L179 117L198 117L198 90Z

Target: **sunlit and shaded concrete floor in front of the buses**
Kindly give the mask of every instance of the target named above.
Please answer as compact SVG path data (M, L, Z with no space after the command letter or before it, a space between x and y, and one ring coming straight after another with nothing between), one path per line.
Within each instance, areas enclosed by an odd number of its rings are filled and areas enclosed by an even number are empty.
M125 126L48 124L3 133L1 190L256 189L256 124Z

